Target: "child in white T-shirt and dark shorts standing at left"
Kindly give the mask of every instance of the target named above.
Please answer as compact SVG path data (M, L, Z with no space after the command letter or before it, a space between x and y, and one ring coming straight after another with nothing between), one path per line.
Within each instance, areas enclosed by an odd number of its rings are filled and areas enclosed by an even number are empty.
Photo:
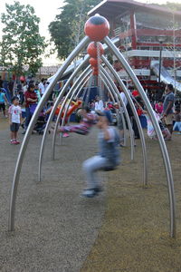
M10 131L11 131L11 144L18 144L20 143L17 140L17 133L22 123L22 110L19 106L19 99L17 96L12 98L12 105L9 107L9 124L10 124Z

